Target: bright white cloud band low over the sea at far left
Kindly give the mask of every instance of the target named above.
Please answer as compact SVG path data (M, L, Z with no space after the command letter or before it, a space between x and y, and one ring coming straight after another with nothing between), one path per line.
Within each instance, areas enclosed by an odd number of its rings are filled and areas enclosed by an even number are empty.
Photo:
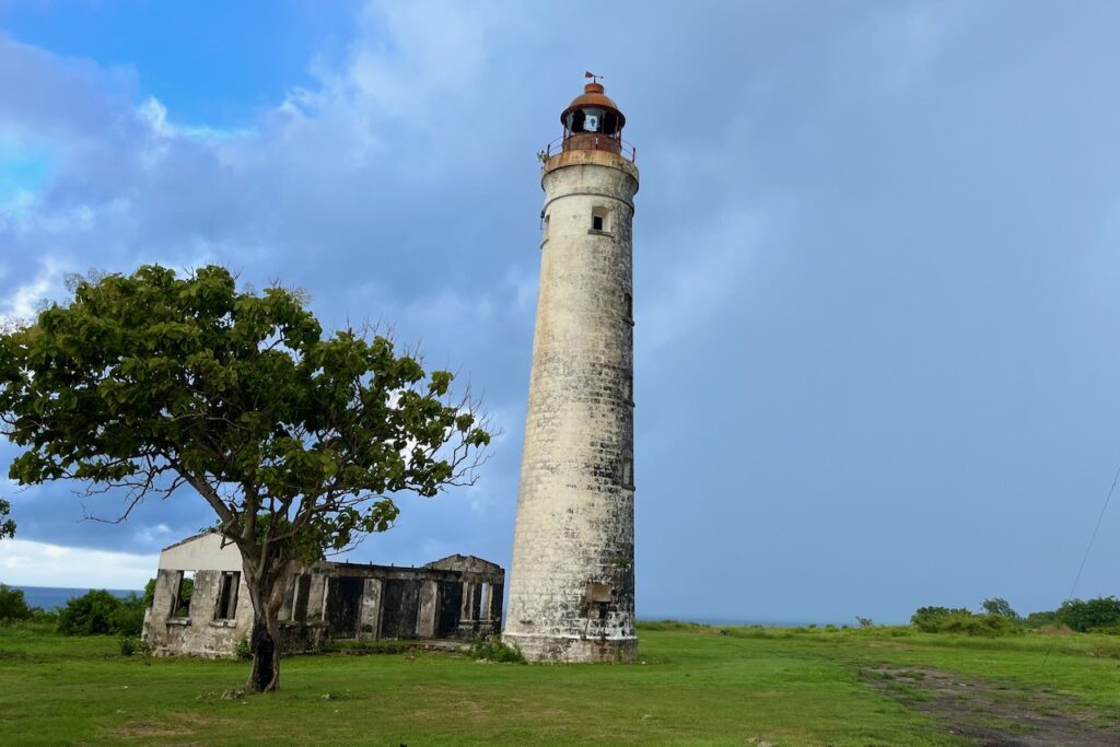
M140 589L156 575L157 554L67 548L29 540L0 542L4 583L97 589Z

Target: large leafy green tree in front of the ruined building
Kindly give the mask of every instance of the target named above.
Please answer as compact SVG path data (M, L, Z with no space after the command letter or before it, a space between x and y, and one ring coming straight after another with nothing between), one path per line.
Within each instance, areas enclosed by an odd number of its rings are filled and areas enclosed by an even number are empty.
M241 551L255 613L248 688L280 681L295 563L392 526L393 495L469 484L489 443L452 375L371 330L324 335L299 291L236 289L220 267L75 279L74 298L0 335L0 422L24 485L148 496L194 488Z

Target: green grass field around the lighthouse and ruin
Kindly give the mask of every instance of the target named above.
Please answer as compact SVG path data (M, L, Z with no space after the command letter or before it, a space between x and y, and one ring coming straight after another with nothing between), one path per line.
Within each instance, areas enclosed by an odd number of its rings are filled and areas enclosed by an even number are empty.
M1023 716L1034 711L1104 738L1066 744L1120 743L1109 741L1120 734L1114 637L674 623L640 636L632 665L297 656L281 692L224 699L245 662L125 657L114 638L0 627L0 743L959 745L980 734L962 735L969 722L1046 744L1045 725ZM972 693L1015 716L973 709Z

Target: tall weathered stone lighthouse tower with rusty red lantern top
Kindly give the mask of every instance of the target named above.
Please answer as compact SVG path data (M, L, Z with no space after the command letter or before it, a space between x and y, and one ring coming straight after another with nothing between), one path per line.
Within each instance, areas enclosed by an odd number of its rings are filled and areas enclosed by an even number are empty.
M590 77L590 75L589 75ZM598 81L545 151L541 282L505 641L531 661L631 661L637 167Z

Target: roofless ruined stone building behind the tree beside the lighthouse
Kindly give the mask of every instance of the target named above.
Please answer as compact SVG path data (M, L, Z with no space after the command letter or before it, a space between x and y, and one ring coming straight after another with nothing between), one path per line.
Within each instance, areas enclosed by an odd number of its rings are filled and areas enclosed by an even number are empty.
M281 647L310 651L337 639L461 638L496 633L505 571L474 555L420 568L319 562L287 581ZM253 627L241 553L206 532L159 555L144 639L156 654L224 656Z

